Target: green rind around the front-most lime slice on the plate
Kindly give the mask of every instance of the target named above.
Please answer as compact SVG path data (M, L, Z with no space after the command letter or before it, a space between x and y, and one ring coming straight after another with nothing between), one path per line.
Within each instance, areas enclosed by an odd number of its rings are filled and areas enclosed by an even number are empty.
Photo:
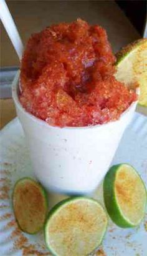
M89 201L92 201L94 202L95 204L98 204L102 210L105 212L105 210L103 209L103 206L97 202L97 200L93 199L93 198L90 198L90 197L83 197L83 196L75 196L75 197L69 197L67 199L64 199L62 201L60 201L58 204L56 204L49 212L49 214L47 215L47 219L46 219L46 222L45 222L45 225L44 225L44 236L45 236L45 244L47 246L47 249L49 249L50 253L53 254L54 256L59 256L59 254L57 254L55 252L54 249L52 249L52 247L50 246L49 244L49 234L48 234L48 228L49 228L49 222L50 222L50 219L52 218L52 215L58 215L59 212L60 212L60 209L62 207L66 207L66 205L69 205L69 203L72 203L72 202L76 202L78 200L89 200ZM97 247L93 250L93 252L97 251L98 247L100 246L100 244L102 244L102 241L103 241L103 238L105 237L105 234L107 232L107 227L108 227L108 216L107 216L107 213L105 212L105 215L107 217L107 223L105 225L105 229L103 229L103 234L102 234L102 237L100 239L100 242L99 244L97 245ZM91 252L91 253L93 253Z

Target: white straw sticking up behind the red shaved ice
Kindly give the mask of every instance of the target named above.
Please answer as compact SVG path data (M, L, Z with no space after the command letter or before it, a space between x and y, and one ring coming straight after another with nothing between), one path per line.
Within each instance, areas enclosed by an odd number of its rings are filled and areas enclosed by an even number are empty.
M0 0L0 17L7 31L7 34L10 37L11 42L17 52L17 55L19 56L19 60L21 60L22 52L23 52L23 44L21 41L21 37L19 36L19 32L17 31L16 24L14 23L11 13L4 0Z

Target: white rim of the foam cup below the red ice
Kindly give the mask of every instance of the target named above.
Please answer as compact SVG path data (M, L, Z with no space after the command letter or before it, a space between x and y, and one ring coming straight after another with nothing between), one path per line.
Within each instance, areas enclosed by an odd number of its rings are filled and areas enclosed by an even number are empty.
M58 127L58 126L50 126L50 124L48 124L47 122L45 122L42 119L39 119L38 117L32 115L31 113L27 112L26 109L24 109L24 107L22 107L21 102L19 101L19 97L17 95L17 86L18 86L18 82L19 82L19 75L20 75L20 70L17 71L16 76L14 77L14 81L12 82L12 99L14 100L14 103L16 104L16 106L19 108L19 110L21 112L23 112L23 114L25 114L27 117L29 117L30 119L32 119L32 121L37 122L39 125L41 126L45 126L48 129L64 129L64 130L87 130L87 129L97 129L98 127L107 127L107 126L111 126L114 123L120 121L121 119L124 119L126 114L128 114L128 112L130 112L130 110L137 104L137 101L134 101L131 103L131 105L128 107L128 109L126 109L120 116L120 119L116 120L116 121L111 121L111 122L107 122L106 124L96 124L95 126L81 126L81 127L76 127L76 126L65 126L65 127ZM140 89L136 89L136 93L139 95L140 94Z

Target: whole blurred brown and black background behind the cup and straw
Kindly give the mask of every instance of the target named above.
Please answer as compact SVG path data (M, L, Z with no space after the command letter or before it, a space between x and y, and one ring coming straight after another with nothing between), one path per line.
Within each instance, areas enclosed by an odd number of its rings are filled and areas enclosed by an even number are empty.
M146 1L36 1L7 0L24 45L32 32L52 23L73 21L80 17L90 24L100 24L108 33L113 51L146 36ZM11 84L19 60L1 24L0 127L16 116L11 99Z

